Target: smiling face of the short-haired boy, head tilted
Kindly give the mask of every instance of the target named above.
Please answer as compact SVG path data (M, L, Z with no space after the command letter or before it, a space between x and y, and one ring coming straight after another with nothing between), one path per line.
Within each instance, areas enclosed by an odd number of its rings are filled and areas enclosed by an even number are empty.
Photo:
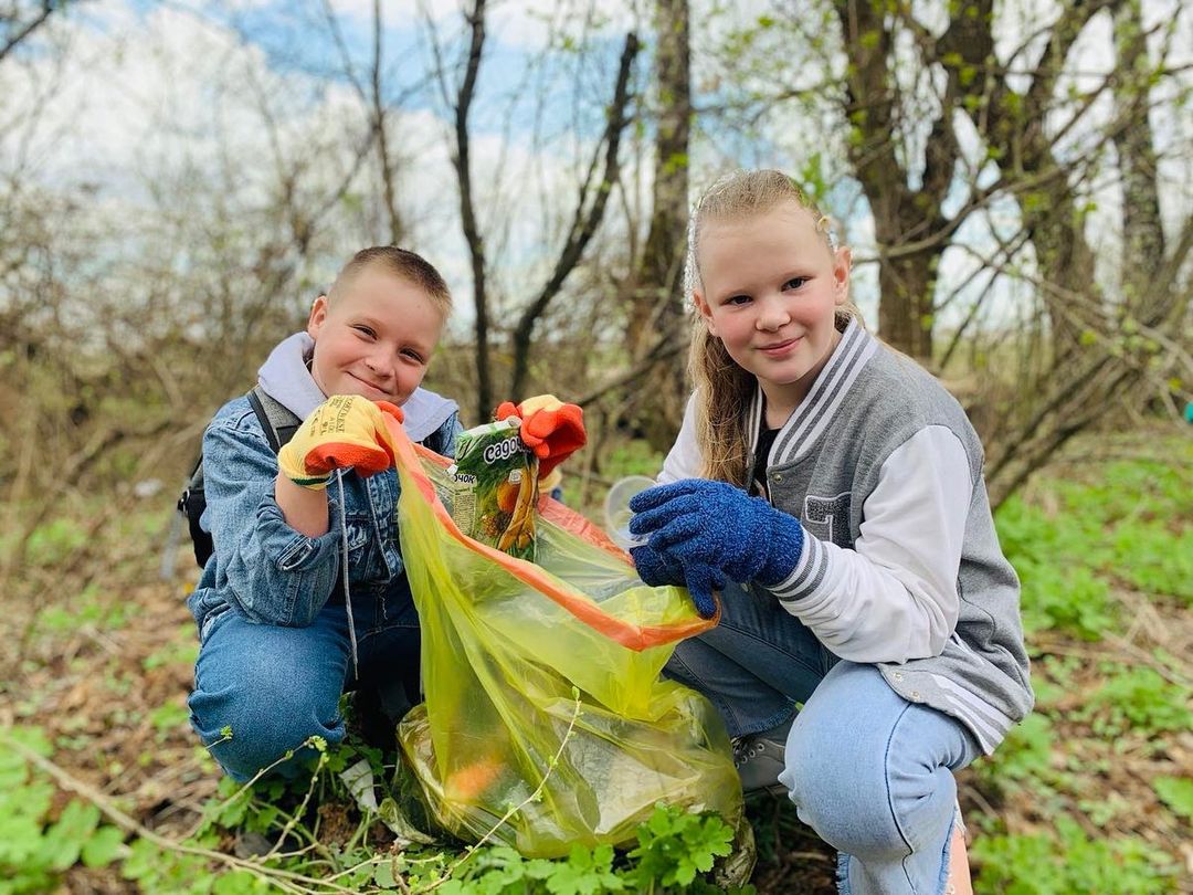
M426 376L444 315L406 277L370 265L315 300L307 333L311 376L324 395L406 403Z

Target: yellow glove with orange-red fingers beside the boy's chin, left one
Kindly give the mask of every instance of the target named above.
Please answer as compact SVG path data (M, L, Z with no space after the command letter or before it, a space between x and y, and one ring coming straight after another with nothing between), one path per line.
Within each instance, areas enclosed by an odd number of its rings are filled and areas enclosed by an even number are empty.
M364 476L389 469L395 450L384 413L402 421L402 409L388 401L360 395L327 399L278 451L278 468L295 484L314 490L327 487L333 469L351 467Z

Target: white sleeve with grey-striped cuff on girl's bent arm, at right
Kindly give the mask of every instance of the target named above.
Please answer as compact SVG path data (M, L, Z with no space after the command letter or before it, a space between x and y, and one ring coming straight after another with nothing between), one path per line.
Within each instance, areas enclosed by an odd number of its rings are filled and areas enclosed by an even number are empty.
M973 483L960 439L928 426L883 463L853 549L804 538L795 572L769 588L842 659L939 655L957 624Z

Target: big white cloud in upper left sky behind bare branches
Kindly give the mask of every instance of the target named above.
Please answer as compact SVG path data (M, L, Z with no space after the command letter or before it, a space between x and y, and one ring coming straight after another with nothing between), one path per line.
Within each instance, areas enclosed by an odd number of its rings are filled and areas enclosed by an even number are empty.
M221 206L248 220L279 189L279 156L295 171L307 160L298 184L313 195L321 189L328 195L350 169L366 125L348 85L280 72L260 48L192 10L154 7L138 16L117 0L87 8L86 18L56 23L55 37L66 47L61 58L48 53L0 67L6 98L0 121L23 123L0 134L0 158L16 159L19 150L38 183L91 189L88 214L106 216L113 236L128 237L130 252L152 235L153 228L147 234L143 227L150 216L177 214L172 204L200 203L191 208L196 215ZM61 87L47 99L37 86L50 79ZM389 122L400 158L400 204L416 247L466 295L469 263L447 125L426 110L395 111ZM540 280L542 257L562 235L544 236L526 204L530 185L542 181L544 192L557 196L573 190L556 191L571 175L562 146L534 150L519 140L475 136L472 172L490 251L507 233L511 264L494 274L495 284L525 300L526 286L518 291L517 278L533 273ZM379 202L375 175L353 190L366 206ZM335 224L345 257L385 232L370 226L378 216L367 209L353 220ZM316 278L326 282L333 272Z

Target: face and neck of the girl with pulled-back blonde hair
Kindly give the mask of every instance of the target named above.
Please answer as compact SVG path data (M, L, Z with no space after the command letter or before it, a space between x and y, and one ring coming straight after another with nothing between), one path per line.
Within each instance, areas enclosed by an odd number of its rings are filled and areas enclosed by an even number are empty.
M849 296L849 249L829 248L811 212L792 199L705 222L697 267L705 326L758 377L767 415L785 420L841 338L835 311Z

